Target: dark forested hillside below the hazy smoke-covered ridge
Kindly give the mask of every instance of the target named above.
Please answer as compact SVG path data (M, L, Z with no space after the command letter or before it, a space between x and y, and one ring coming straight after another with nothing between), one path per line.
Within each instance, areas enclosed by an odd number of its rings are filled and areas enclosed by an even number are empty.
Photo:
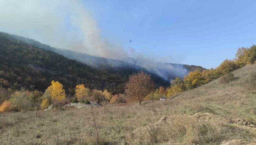
M128 74L136 72L129 68L124 71L126 73L97 70L11 38L6 33L0 33L0 60L0 85L4 88L45 91L55 80L63 84L67 94L72 93L77 84L84 84L90 89L106 88L113 94L122 93ZM169 84L154 74L152 77L157 85Z

